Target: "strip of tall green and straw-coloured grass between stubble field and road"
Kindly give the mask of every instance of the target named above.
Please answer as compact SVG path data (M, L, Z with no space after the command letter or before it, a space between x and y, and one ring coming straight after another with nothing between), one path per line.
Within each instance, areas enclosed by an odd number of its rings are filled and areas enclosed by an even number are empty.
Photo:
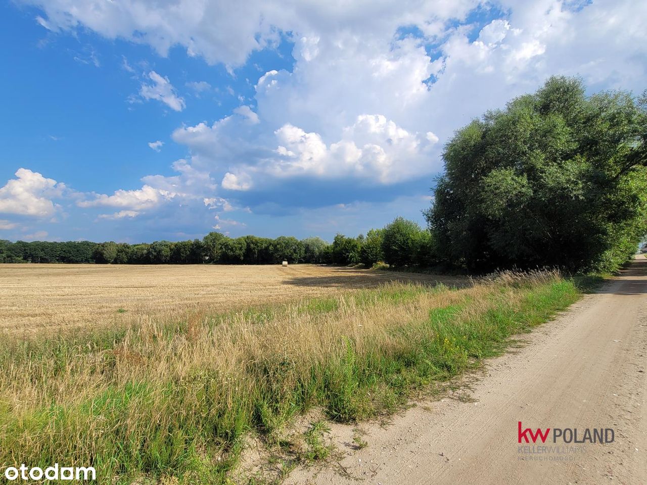
M505 274L5 342L0 464L225 483L249 433L271 442L314 406L340 421L393 411L578 296L555 273Z

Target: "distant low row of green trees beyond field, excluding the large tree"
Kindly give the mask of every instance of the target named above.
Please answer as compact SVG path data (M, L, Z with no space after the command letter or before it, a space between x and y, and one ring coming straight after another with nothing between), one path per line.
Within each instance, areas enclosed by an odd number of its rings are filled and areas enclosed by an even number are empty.
M401 217L366 236L338 234L332 243L320 237L276 239L247 235L231 238L210 232L203 239L126 242L10 242L0 240L0 263L98 264L358 264L389 261L397 266L428 265L432 237L413 221Z

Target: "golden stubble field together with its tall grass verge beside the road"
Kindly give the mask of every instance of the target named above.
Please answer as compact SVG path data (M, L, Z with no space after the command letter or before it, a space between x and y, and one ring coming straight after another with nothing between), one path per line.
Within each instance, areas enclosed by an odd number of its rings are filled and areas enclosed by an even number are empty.
M393 413L580 296L554 272L33 264L0 281L0 463L100 484L276 482L331 453L321 418ZM261 476L241 467L251 443Z

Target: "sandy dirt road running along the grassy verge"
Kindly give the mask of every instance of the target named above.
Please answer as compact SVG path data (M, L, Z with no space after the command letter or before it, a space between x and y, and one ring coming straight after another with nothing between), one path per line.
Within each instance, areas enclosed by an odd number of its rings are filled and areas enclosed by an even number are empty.
M353 427L334 426L344 457L288 482L647 484L647 259L526 337L487 364L470 400L418 404L388 426L360 426L363 449L353 449ZM519 421L533 432L551 428L545 444L519 444ZM615 440L555 444L554 428L580 437L611 428Z

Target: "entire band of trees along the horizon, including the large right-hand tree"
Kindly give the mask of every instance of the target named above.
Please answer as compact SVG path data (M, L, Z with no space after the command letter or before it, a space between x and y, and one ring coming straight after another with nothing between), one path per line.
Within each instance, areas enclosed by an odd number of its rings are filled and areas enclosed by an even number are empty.
M553 77L488 111L443 151L427 227L397 218L366 235L298 240L211 232L193 241L0 241L0 262L443 264L470 272L613 271L647 233L647 91L586 95Z

